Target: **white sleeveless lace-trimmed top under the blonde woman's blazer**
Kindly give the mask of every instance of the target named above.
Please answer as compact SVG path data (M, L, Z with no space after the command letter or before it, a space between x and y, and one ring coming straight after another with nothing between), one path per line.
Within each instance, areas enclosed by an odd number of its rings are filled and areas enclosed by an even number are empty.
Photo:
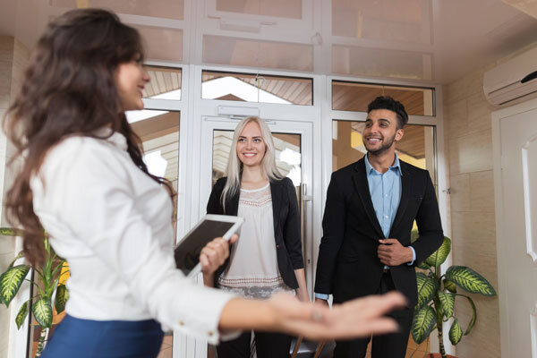
M266 299L286 286L277 268L272 197L269 184L260 189L241 189L239 217L244 217L231 263L218 278L218 286L249 298Z

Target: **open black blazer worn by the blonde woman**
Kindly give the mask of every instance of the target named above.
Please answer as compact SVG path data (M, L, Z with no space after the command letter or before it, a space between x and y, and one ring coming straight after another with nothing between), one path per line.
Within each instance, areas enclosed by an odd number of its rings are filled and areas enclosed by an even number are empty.
M207 203L208 214L237 215L239 209L239 195L226 200L226 211L222 207L220 196L226 185L226 177L217 180L210 193ZM272 214L274 217L274 239L277 254L277 267L287 286L298 288L294 270L303 268L302 238L300 235L300 217L298 204L291 179L270 180L270 194L272 196ZM217 279L229 265L229 259L215 272L215 287Z

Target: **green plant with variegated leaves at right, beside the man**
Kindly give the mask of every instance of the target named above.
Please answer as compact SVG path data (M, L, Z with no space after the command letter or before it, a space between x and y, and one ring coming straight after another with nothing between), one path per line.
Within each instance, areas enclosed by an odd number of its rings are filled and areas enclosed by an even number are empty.
M445 274L441 274L440 265L447 259L450 251L451 240L448 237L444 237L444 242L439 247L439 250L432 253L419 266L419 268L426 270L427 273L416 272L418 304L414 308L412 325L412 337L418 345L427 339L430 332L435 328L438 330L439 351L442 358L447 357L444 349L442 323L451 318L454 319L448 334L451 343L456 345L463 336L470 334L477 320L477 311L472 297L458 293L457 287L470 294L482 294L489 297L496 295L496 291L489 281L472 268L450 266ZM473 310L472 319L464 332L459 321L453 315L456 297L465 298Z

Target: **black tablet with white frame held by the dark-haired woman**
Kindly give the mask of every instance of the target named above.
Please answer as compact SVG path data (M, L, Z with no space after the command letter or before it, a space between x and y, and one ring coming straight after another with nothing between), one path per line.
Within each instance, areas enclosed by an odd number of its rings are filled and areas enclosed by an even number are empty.
M243 217L211 215L202 217L175 248L175 265L187 277L195 277L201 271L200 252L215 237L229 240L243 225Z

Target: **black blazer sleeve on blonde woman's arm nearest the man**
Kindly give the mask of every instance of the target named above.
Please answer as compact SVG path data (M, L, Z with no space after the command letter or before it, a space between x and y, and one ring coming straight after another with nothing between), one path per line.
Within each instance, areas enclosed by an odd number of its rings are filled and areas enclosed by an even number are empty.
M283 183L286 187L286 195L289 203L286 222L284 223L284 242L286 243L286 249L291 258L293 269L304 268L300 216L298 215L296 192L291 179L284 178Z

